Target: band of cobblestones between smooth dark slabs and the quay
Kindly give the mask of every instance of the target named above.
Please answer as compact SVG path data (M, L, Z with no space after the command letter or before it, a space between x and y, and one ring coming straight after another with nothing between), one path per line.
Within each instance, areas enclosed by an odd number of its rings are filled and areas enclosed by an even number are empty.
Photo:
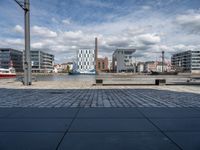
M196 92L195 92L196 90ZM193 93L192 93L193 92ZM199 87L0 89L0 107L200 107Z

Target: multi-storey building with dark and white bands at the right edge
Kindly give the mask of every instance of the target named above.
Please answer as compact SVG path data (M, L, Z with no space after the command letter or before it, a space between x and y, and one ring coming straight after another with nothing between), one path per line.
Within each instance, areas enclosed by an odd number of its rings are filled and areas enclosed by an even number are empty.
M200 73L200 51L185 51L172 55L172 69L178 72Z

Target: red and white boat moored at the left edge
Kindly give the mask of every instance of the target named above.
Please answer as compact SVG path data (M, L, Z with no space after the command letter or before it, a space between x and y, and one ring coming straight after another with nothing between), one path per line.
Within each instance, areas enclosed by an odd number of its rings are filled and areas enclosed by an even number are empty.
M0 68L0 78L15 78L16 72L14 68Z

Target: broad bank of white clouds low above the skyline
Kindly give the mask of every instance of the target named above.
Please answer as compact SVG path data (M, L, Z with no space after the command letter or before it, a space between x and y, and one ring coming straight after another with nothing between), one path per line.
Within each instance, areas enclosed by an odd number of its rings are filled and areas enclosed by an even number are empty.
M177 17L165 17L161 14L151 13L151 17L138 18L138 14L128 14L123 17L112 17L111 21L99 24L80 25L77 22L71 23L70 19L56 20L52 22L61 23L56 28L48 26L31 27L31 46L55 54L56 60L62 62L67 58L74 58L79 48L94 49L94 38L99 38L99 50L101 56L108 56L110 59L116 48L136 48L136 56L141 60L155 60L162 50L166 51L166 57L174 52L196 49L199 46L199 35L188 34L187 31L198 31L200 25L200 14L198 12L187 12ZM141 13L141 12L140 12ZM141 15L141 14L140 14ZM146 14L145 14L146 15ZM198 20L199 19L199 20ZM137 20L137 21L135 21ZM176 24L174 24L176 22ZM177 24L178 23L178 24ZM66 27L63 24L67 24ZM64 27L59 28L58 27ZM20 31L20 27L15 27ZM4 40L4 45L15 45L23 48L23 40ZM0 42L2 46L2 42ZM156 53L154 53L156 52ZM157 53L158 52L158 53Z

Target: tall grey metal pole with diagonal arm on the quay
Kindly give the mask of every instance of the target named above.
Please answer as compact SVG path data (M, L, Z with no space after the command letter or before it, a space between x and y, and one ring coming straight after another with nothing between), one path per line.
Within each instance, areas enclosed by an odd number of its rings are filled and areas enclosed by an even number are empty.
M24 80L23 84L28 86L32 84L31 59L30 59L30 3L29 0L14 0L24 10L25 27L25 60L24 60Z

